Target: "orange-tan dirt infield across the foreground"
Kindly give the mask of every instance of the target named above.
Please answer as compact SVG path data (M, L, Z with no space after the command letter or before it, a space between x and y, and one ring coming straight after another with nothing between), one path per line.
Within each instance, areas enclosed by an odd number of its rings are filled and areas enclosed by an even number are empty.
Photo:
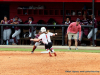
M99 53L57 52L49 57L40 52L0 51L0 75L100 75L88 71L100 71Z

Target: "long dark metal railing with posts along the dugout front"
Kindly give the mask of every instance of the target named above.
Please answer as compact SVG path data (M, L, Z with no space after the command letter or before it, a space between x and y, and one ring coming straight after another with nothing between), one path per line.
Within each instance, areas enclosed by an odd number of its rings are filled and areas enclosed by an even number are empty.
M1 45L3 44L3 26L22 26L22 27L29 26L29 27L32 27L32 30L33 30L33 27L62 27L62 46L63 46L64 45L64 28L68 27L69 25L47 25L47 24L31 24L31 25L30 24L17 24L17 25L15 25L15 24L0 24L0 26L1 26ZM84 28L84 27L93 28L92 25L81 25L81 27L82 28ZM31 37L34 38L33 31L32 31L32 36Z

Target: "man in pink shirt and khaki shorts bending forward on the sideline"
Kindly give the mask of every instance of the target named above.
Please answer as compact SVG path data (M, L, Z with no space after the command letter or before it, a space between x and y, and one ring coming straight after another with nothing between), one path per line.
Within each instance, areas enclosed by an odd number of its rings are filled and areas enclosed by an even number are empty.
M69 39L69 50L71 50L71 38L73 36L74 40L75 40L75 50L78 50L77 48L77 32L79 31L79 40L81 38L81 25L80 23L80 19L77 18L76 22L73 22L69 25L68 29L67 29L67 35L68 35L68 39Z

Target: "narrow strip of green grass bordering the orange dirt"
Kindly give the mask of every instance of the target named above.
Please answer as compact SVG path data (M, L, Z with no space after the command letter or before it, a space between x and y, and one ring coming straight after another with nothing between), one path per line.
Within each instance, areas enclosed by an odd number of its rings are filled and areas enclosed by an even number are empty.
M0 51L31 51L30 48L0 48ZM45 49L36 49L35 51L45 51ZM89 52L89 53L100 53L100 50L67 50L67 49L55 49L59 52Z

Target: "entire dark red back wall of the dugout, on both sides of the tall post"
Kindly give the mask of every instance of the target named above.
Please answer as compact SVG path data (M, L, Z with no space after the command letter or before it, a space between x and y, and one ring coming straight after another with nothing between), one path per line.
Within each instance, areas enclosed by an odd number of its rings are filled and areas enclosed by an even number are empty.
M92 3L65 3L65 9L80 9L82 10L82 8L84 7L84 4L86 4L87 7L92 7ZM34 6L38 6L38 5L44 5L46 7L46 9L63 9L63 3L46 3L46 2L41 2L41 3L10 3L10 19L13 18L15 15L19 16L23 22L27 20L28 15L18 15L17 14L17 7L18 6L30 6L30 5L34 5ZM99 10L100 8L98 7L100 5L100 3L96 3L95 4L95 14L96 14L96 18L97 20L99 20L99 16L97 16L97 10ZM62 24L63 22L63 16L32 16L34 18L34 21L37 22L38 20L44 20L45 22L47 22L49 20L49 18L54 18L58 24ZM66 17L66 16L65 16ZM82 16L73 16L71 17L72 20L76 20L76 18L79 17L82 19Z

